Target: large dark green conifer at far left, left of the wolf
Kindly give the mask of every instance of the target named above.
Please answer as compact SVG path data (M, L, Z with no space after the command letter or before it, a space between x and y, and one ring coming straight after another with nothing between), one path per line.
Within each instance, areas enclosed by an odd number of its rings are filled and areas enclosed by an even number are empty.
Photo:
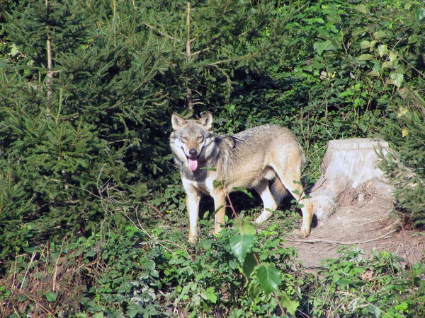
M162 106L153 105L161 99L149 83L160 67L149 50L134 50L139 37L123 36L135 21L132 6L122 5L6 4L2 33L11 54L1 69L0 169L9 186L1 188L8 201L0 244L19 249L119 222L119 209L105 204L114 195L107 190L140 197L164 160L164 146L145 142L152 119L164 135Z

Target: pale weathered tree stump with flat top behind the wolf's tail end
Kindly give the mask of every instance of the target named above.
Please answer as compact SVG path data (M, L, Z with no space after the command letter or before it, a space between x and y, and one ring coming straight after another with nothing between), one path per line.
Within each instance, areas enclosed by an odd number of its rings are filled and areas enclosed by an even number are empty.
M375 139L341 139L328 143L321 169L324 175L308 192L319 224L337 208L378 202L380 208L392 206L392 187L377 167L377 151L385 155L388 143Z

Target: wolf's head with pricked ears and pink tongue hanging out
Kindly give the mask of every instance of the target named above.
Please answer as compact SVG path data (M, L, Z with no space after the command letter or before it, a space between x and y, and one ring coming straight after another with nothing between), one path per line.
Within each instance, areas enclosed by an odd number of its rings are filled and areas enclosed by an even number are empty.
M174 131L170 145L176 160L192 171L197 170L199 161L205 161L206 149L215 138L210 130L212 114L206 112L200 119L186 120L174 113L171 123Z

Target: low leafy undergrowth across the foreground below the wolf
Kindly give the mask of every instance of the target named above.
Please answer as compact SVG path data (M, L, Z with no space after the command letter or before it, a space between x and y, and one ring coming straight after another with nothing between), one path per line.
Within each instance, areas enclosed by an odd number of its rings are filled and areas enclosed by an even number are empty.
M0 316L424 317L423 263L341 248L313 274L294 261L294 248L282 246L274 223L253 235L243 264L232 247L241 235L236 222L212 236L212 220L201 220L195 245L185 232L135 220L119 235L28 250L0 281ZM250 259L278 276L270 290Z

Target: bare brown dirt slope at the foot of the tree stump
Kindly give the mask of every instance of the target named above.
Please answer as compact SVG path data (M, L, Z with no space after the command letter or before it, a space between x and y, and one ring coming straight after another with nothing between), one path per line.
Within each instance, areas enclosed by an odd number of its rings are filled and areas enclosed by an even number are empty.
M322 259L336 258L341 245L356 245L366 254L373 250L391 252L410 264L424 261L425 236L418 230L403 228L390 211L392 206L379 200L353 202L312 228L306 239L288 238L286 246L296 247L298 259L313 270Z

